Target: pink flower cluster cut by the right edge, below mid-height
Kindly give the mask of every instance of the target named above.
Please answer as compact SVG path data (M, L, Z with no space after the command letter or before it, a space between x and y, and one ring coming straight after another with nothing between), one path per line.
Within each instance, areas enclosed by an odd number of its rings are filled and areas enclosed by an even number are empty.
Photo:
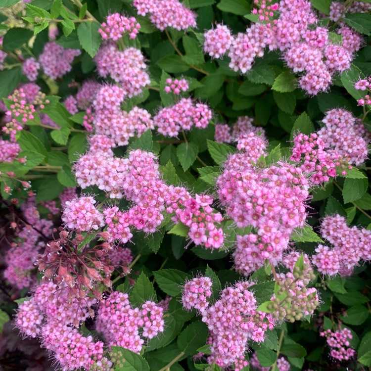
M332 248L319 245L312 262L323 275L350 276L359 261L371 260L371 231L348 227L345 217L327 216L321 224L322 236Z

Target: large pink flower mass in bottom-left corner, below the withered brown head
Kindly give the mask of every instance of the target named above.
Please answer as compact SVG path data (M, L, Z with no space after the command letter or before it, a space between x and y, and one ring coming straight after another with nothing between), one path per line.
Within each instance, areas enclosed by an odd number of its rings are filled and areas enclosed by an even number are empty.
M67 292L64 286L57 288L52 282L38 286L31 298L19 306L17 328L24 336L39 337L63 371L90 370L102 361L111 366L104 357L103 343L94 342L92 336L84 336L77 329L93 314L95 299L71 300Z

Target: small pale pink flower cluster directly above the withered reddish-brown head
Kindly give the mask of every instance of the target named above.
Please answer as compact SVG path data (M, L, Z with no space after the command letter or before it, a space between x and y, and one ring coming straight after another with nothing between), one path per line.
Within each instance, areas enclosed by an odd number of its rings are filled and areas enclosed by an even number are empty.
M104 217L95 208L95 203L91 196L80 196L72 201L66 201L62 214L62 221L66 227L79 231L91 231L103 227Z

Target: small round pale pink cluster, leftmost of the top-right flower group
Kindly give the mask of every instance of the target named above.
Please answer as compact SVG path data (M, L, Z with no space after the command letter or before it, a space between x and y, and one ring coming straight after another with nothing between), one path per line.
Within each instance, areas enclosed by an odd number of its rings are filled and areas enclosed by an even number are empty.
M204 51L214 58L222 57L232 45L231 30L220 23L216 25L216 28L206 31L203 36L205 38Z

